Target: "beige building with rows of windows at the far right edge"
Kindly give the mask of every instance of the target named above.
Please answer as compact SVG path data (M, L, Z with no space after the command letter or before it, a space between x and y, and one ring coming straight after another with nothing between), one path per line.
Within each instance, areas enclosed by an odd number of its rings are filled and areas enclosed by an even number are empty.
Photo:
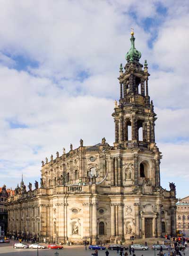
M189 196L177 203L177 229L189 233Z

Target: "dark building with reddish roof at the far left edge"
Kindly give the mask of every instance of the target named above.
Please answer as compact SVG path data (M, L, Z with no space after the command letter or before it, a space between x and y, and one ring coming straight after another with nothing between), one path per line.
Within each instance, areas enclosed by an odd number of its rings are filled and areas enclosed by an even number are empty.
M8 212L5 204L10 193L10 189L6 189L6 185L0 188L0 236L7 232Z

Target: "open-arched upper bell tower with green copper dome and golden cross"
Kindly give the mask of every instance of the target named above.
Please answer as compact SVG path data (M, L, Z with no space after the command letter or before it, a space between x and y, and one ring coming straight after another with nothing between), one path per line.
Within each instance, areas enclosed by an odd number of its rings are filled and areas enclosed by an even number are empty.
M141 53L135 48L134 32L131 32L131 47L126 54L127 63L120 64L120 101L115 103L112 114L115 122L115 147L155 146L155 112L148 95L147 62L144 68L139 63Z

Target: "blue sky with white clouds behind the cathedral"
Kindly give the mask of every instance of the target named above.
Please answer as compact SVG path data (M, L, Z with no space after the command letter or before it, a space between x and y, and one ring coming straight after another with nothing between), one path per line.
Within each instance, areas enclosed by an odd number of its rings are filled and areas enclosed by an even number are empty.
M189 1L0 0L0 186L62 148L112 145L130 28L148 63L161 185L189 195Z

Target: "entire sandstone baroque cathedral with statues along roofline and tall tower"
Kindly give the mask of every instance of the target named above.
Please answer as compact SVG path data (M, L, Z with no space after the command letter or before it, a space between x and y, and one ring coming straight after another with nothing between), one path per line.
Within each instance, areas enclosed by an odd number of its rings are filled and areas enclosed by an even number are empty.
M161 152L155 143L148 67L140 64L134 32L127 63L120 64L119 104L112 117L115 142L105 138L42 161L35 189L21 182L8 203L8 233L57 243L120 242L176 234L176 192L160 185Z

